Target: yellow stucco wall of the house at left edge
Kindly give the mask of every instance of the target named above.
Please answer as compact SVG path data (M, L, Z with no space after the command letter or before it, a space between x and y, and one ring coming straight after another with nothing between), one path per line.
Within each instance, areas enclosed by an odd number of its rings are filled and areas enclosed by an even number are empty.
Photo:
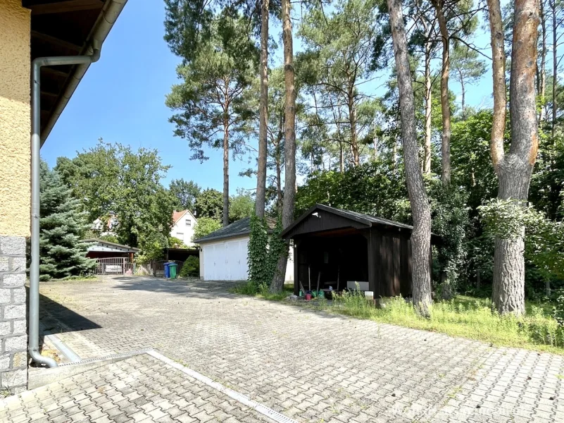
M30 11L0 0L0 235L30 235Z

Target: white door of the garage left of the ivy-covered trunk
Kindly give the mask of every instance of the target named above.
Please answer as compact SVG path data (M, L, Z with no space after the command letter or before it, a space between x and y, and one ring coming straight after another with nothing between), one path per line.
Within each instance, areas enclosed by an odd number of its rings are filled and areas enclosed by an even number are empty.
M206 281L246 281L249 238L202 245Z

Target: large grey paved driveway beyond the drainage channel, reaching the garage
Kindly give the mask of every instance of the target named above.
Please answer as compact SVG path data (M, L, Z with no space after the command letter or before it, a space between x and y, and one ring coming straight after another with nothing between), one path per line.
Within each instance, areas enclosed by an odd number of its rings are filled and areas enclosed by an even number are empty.
M80 357L155 348L300 422L564 422L564 357L231 295L226 283L42 283Z

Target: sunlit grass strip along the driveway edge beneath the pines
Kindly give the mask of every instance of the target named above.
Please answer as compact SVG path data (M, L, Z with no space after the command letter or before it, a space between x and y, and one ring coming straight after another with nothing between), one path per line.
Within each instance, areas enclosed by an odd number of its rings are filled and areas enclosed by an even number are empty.
M234 288L233 292L254 295L267 300L281 300L292 293L270 294L249 284ZM299 302L299 305L326 312L344 314L358 319L370 319L413 329L446 333L451 336L484 341L494 345L546 351L564 355L564 326L558 324L546 304L527 302L522 317L500 316L491 311L491 301L458 295L453 300L434 302L429 319L419 317L403 298L388 298L385 307L370 305L363 293L351 291L334 295L334 300Z

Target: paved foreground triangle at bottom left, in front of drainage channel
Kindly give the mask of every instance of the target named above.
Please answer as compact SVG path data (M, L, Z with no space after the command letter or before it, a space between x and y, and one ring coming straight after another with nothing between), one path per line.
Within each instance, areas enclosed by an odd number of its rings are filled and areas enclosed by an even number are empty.
M270 422L148 354L0 400L9 423Z

